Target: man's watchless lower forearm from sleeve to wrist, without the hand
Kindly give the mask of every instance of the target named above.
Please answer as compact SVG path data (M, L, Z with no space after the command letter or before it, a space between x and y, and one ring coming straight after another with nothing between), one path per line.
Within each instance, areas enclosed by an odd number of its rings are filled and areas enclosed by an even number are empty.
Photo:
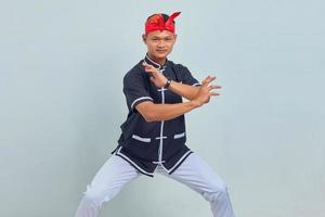
M183 115L199 105L194 101L176 104L154 104L145 103L141 105L141 114L146 122L161 122L173 119L180 115Z

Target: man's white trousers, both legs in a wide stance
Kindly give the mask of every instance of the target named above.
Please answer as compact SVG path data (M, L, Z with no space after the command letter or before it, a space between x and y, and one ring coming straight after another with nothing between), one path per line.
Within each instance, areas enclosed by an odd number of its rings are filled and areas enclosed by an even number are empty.
M197 154L192 153L182 165L168 175L161 167L157 173L186 184L206 199L213 217L234 217L226 186ZM96 217L104 202L112 200L125 184L141 176L128 162L112 155L98 171L77 209L76 217Z

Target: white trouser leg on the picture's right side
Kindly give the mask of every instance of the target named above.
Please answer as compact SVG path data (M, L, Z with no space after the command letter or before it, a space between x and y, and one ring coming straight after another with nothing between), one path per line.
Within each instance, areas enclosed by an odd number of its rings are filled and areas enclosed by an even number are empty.
M196 153L167 176L202 194L210 203L213 217L235 216L225 183Z

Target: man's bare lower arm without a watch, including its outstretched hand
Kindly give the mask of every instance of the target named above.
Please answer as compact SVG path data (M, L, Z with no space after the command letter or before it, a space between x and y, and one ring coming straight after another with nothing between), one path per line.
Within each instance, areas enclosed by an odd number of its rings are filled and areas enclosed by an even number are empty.
M218 89L219 86L209 86L216 77L208 76L199 88L197 94L190 101L176 104L155 104L153 102L142 102L135 106L138 112L145 118L146 122L169 120L183 115L196 107L208 103L210 97L219 95L219 93L211 90Z

